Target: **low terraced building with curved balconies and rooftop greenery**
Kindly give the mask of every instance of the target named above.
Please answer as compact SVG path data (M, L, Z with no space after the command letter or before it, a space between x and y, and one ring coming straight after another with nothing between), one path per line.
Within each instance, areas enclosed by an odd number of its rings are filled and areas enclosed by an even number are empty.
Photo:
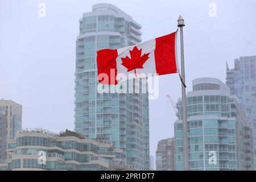
M110 140L24 129L9 141L7 161L10 171L115 171L127 169L122 155Z

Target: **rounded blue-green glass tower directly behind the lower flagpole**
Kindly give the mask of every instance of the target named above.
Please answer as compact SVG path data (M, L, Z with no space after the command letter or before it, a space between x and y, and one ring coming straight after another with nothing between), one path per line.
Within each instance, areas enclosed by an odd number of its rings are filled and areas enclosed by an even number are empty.
M175 169L183 170L181 100L175 122ZM236 96L216 78L193 80L187 94L188 159L191 170L253 170L252 129ZM211 152L210 152L211 151ZM212 157L215 152L216 160Z

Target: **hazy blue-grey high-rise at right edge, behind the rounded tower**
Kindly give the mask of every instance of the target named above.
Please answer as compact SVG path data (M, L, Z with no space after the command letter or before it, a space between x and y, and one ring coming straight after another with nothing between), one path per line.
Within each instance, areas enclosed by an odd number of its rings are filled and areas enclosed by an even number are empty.
M237 96L246 111L246 120L253 127L254 169L256 169L256 56L243 56L234 60L234 68L226 64L226 85Z

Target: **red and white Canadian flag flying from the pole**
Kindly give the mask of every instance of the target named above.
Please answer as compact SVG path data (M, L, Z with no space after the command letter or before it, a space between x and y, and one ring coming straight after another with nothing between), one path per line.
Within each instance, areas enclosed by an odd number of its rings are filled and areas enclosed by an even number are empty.
M178 73L176 37L177 32L174 32L136 46L98 51L98 81L117 85L117 75L120 73L127 77L129 74L137 77L148 73Z

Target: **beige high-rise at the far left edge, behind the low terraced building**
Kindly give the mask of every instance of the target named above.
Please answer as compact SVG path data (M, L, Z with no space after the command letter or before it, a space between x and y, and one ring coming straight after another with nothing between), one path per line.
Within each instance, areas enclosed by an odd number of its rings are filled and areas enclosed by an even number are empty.
M7 163L7 148L10 139L22 130L22 106L0 100L0 163Z

